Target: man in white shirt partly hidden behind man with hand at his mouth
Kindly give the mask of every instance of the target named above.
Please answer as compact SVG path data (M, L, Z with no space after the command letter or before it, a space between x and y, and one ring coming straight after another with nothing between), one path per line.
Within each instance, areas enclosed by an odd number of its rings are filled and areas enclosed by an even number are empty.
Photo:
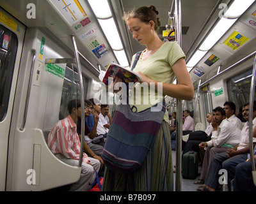
M243 122L235 115L236 105L232 101L226 101L223 106L228 121L232 122L237 128L243 129Z

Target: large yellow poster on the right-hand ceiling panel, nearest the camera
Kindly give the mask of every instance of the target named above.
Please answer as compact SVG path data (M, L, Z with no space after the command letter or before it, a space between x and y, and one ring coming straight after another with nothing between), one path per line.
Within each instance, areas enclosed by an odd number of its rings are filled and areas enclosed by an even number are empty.
M228 47L232 48L232 50L236 50L248 40L249 38L246 38L243 35L234 31L223 43Z

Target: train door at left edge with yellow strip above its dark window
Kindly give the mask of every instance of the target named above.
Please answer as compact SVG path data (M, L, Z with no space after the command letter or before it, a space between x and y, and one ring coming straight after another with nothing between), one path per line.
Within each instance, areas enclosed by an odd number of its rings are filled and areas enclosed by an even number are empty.
M0 9L0 191L6 184L8 138L25 30Z

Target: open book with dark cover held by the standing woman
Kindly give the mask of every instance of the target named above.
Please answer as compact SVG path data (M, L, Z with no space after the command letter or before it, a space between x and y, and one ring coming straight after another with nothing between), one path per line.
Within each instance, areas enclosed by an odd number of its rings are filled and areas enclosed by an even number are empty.
M114 62L111 62L109 64L107 71L101 71L99 75L100 81L102 81L104 84L109 85L109 77L114 78L118 77L122 79L122 82L129 83L129 82L138 82L141 79L141 76L131 71L131 69L124 68L120 66L119 64L115 64Z

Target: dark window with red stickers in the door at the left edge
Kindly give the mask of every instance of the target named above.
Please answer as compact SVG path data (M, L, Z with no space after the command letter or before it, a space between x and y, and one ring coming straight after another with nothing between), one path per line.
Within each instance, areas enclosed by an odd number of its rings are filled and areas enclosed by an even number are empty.
M17 36L0 25L0 121L8 110L17 48Z

